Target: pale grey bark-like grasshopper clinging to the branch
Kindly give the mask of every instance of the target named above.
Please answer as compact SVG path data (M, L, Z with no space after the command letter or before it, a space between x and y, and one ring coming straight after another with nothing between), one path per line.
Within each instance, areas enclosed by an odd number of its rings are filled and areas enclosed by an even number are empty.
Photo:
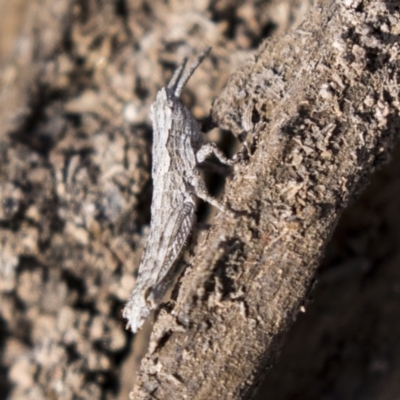
M132 332L137 332L164 297L169 272L195 221L196 196L226 211L208 194L198 164L211 154L227 165L233 161L226 159L214 143L202 144L200 125L179 100L189 78L210 50L207 48L183 75L187 62L184 59L150 108L154 188L151 229L136 285L123 311Z

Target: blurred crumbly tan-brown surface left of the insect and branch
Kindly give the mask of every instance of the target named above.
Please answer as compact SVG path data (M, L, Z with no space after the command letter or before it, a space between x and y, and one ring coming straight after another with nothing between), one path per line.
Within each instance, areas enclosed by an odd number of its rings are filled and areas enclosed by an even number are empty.
M145 348L121 310L149 222L149 105L211 45L183 96L205 117L246 49L299 13L284 4L277 20L269 3L0 1L4 397L127 398Z

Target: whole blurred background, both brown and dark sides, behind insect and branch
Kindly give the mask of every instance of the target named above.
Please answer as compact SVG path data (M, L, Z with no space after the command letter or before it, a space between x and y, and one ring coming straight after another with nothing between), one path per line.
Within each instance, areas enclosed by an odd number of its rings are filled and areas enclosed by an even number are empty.
M309 6L0 0L1 399L128 398L151 329L133 340L121 316L150 220L149 106L184 56L212 46L183 93L206 117ZM226 133L207 136L232 151ZM343 214L258 400L399 398L399 199L397 148Z

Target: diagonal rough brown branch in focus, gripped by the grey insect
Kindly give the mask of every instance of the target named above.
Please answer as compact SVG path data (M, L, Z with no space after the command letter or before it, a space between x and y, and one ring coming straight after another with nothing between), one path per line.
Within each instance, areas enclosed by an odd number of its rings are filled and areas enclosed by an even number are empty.
M245 137L219 214L154 326L135 399L245 399L304 311L341 211L388 159L399 119L398 10L322 1L267 41L214 103Z

